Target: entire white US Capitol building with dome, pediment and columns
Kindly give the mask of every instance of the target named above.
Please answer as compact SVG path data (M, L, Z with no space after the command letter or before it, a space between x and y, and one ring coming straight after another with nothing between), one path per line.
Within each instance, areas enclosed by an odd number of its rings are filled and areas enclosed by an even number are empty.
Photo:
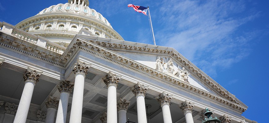
M88 6L0 22L0 123L257 123L174 48L124 41Z

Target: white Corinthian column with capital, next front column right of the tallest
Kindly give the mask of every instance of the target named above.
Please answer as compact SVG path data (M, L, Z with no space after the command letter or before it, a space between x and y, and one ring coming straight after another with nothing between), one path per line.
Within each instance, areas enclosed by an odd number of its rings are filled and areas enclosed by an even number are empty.
M117 123L117 86L120 77L109 71L103 78L107 86L107 123Z

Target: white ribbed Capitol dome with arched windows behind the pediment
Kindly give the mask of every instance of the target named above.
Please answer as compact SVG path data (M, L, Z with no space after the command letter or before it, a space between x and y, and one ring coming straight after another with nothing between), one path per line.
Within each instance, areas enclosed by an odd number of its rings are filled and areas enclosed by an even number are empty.
M45 8L15 26L64 47L82 28L90 31L92 36L124 40L102 14L88 6L89 0L69 0Z

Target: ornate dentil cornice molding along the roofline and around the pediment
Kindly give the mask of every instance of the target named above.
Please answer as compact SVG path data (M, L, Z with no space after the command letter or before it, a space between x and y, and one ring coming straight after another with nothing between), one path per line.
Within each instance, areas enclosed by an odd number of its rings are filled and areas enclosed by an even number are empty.
M194 77L200 76L203 74L200 74L200 71L196 70L197 68L194 68L190 66L191 63L185 62L185 58L180 56L180 54L175 53L174 51L171 50L160 50L160 49L154 49L154 48L147 48L147 47L136 47L136 46L127 46L127 45L122 45L122 44L111 44L109 42L99 42L99 41L84 41L83 39L78 39L77 36L75 36L76 40L73 40L66 51L63 53L63 55L60 55L58 53L53 53L49 51L40 51L40 49L32 49L28 50L28 46L25 46L28 44L31 46L31 43L25 42L25 45L18 45L19 41L21 39L15 38L15 41L13 36L10 36L6 34L3 36L4 33L0 33L0 46L5 48L5 49L11 49L14 52L20 52L23 54L26 54L27 56L30 57L35 57L40 60L43 60L44 62L48 62L49 64L53 64L56 66L60 66L62 68L66 68L70 62L72 62L73 58L77 55L79 51L84 51L93 55L96 55L98 57L104 58L110 62L114 62L116 64L119 64L120 66L126 67L131 71L139 72L141 74L144 74L145 76L149 76L156 81L160 81L163 83L166 83L168 85L174 86L175 88L178 88L182 91L185 91L187 93L190 93L191 95L206 99L208 101L211 101L213 103L216 103L217 105L227 107L229 109L232 109L234 111L237 111L239 113L242 113L246 110L246 106L242 106L240 103L238 103L236 100L234 100L231 95L228 95L224 93L224 97L229 98L225 99L223 96L219 97L214 94L211 94L209 92L203 91L199 88L195 88L184 81L179 81L176 78L165 75L159 71L155 71L152 68L149 68L147 66L144 66L138 62L129 60L126 57L123 57L119 54L115 54L114 52L111 52L110 50L114 51L122 51L122 52L134 52L134 53L140 53L140 54L149 54L149 55L156 55L156 56L164 56L164 57L171 57L175 62L180 63L181 66L185 66L185 69L189 71ZM89 38L89 36L83 36L80 35L81 37L84 38ZM92 37L93 38L93 37ZM96 38L96 37L94 37ZM94 39L97 40L97 39ZM105 39L104 39L105 40ZM106 39L107 40L107 39ZM17 42L17 43L13 43ZM110 47L110 48L109 48ZM126 49L124 49L126 47ZM37 47L35 47L37 48ZM171 48L172 49L172 48ZM182 59L182 58L184 59ZM180 62L179 62L180 61ZM189 68L189 67L191 68ZM193 65L194 66L194 65ZM195 71L190 71L189 69L195 70ZM193 74L194 72L197 72L197 74ZM199 73L199 74L198 74ZM208 77L202 77L205 78L204 83L207 83L207 85L211 85L210 89L212 91L216 89L221 90L219 86L216 86L214 82L211 80L207 79ZM199 79L200 80L200 79ZM201 80L200 80L201 81ZM212 89L215 88L215 89ZM220 94L220 93L218 93Z

